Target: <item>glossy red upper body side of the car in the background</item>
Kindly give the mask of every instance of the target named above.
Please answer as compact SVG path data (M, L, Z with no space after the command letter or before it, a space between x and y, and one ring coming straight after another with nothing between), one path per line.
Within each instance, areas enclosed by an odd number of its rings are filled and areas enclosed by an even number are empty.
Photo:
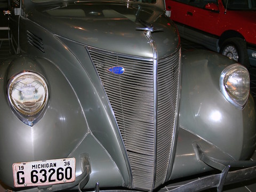
M227 10L218 0L219 12L196 6L166 0L166 10L171 11L171 19L183 25L221 36L225 31L235 30L247 43L256 44L256 12Z

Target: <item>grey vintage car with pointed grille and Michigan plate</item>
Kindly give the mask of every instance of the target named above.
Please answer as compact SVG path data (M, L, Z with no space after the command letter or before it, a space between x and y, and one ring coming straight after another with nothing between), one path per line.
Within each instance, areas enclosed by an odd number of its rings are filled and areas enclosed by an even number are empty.
M14 0L0 65L0 180L12 191L174 191L255 177L245 67L181 54L164 0ZM7 17L7 16L6 16Z

